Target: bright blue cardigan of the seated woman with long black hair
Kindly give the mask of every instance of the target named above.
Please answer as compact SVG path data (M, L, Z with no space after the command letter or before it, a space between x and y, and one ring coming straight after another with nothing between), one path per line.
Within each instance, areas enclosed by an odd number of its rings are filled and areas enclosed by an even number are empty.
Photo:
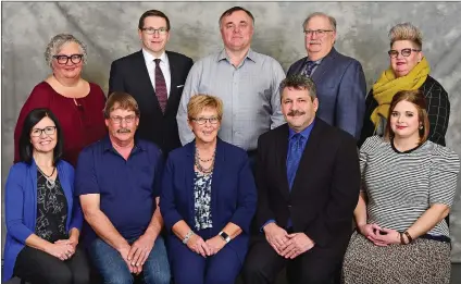
M74 199L74 168L61 160L57 164L58 175L67 200L67 232L80 230L83 214L79 201ZM26 245L26 238L35 232L37 220L37 164L20 162L11 166L4 193L4 217L7 242L2 282L13 276L14 264L20 251ZM73 212L73 213L72 213ZM72 218L71 218L72 217Z

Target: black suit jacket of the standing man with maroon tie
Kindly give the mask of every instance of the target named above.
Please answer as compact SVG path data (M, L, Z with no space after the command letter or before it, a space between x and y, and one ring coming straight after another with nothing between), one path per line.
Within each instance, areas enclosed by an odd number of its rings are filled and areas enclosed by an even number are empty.
M184 84L194 64L190 58L180 53L166 51L166 55L172 84L165 114L157 99L141 50L112 62L109 78L109 95L113 91L125 91L138 102L140 120L136 135L157 144L165 155L182 146L176 113Z

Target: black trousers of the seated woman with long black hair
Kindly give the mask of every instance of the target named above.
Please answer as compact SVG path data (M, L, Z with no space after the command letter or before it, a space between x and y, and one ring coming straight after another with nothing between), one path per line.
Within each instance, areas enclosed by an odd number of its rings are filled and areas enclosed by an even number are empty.
M34 284L89 284L89 271L85 250L78 247L71 259L62 261L25 246L14 266L14 275Z

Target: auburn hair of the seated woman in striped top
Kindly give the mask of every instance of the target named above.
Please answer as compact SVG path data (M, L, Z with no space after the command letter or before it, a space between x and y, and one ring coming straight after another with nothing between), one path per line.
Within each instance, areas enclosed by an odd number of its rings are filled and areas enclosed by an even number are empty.
M400 90L394 96L389 107L389 114L387 115L386 133L384 137L386 140L394 138L394 132L390 127L390 116L397 103L402 100L413 103L418 110L418 119L423 126L423 128L420 129L420 145L422 145L427 140L427 137L429 136L429 119L426 110L426 99L424 98L423 91L419 89Z

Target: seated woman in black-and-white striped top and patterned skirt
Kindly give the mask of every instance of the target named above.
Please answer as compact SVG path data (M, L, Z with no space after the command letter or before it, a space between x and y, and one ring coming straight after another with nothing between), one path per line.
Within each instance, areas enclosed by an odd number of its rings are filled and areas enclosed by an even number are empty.
M399 91L390 102L385 137L372 136L360 148L358 230L345 256L344 283L450 283L445 217L460 160L429 141L428 128L424 94Z

